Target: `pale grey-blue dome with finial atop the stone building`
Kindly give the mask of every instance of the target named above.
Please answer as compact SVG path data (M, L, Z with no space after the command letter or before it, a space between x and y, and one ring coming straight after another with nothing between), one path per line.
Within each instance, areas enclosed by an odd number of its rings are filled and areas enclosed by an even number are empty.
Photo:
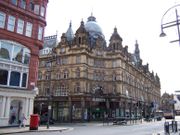
M99 35L104 38L101 27L97 24L96 18L94 16L88 17L87 23L85 24L85 29L90 35Z

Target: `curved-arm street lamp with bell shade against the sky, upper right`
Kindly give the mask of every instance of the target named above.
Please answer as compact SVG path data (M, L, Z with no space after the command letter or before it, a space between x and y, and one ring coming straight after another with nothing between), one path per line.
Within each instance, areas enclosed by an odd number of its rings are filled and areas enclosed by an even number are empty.
M159 36L160 36L160 37L165 37L165 36L166 36L166 33L164 32L164 29L176 26L176 27L177 27L178 39L177 39L177 40L170 41L170 43L179 42L179 45L180 45L180 28L179 28L180 19L179 19L178 10L177 10L177 7L179 7L179 6L180 6L180 4L175 5L175 6L172 6L172 7L169 8L169 9L164 13L164 15L162 16L162 19L161 19L161 34L160 34ZM165 16L171 9L175 9L175 15L176 15L175 17L176 17L176 19L173 20L173 21L170 21L170 22L163 22L163 21L164 21L164 16Z

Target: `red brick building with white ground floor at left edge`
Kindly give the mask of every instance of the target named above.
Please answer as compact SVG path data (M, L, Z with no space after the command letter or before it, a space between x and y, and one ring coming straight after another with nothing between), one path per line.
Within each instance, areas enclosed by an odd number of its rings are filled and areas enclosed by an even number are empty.
M0 1L0 126L29 119L48 0ZM27 124L28 124L27 120Z

